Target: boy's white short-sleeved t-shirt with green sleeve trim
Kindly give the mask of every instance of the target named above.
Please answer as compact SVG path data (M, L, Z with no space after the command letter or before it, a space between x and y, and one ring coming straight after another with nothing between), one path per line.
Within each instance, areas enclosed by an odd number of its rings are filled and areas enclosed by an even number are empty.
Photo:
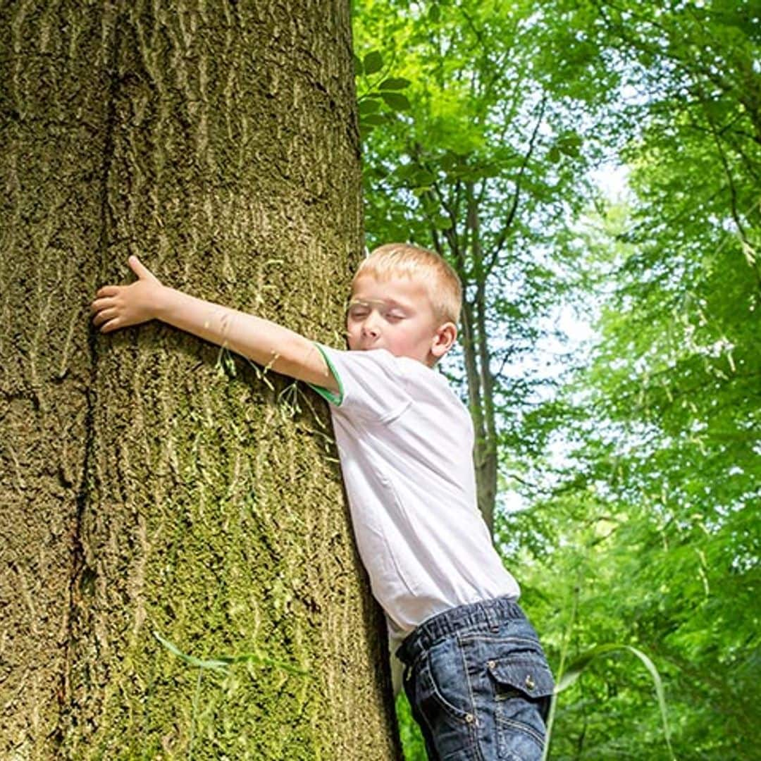
M476 502L473 423L437 371L385 349L319 347L341 389L330 402L355 537L390 633L517 582Z

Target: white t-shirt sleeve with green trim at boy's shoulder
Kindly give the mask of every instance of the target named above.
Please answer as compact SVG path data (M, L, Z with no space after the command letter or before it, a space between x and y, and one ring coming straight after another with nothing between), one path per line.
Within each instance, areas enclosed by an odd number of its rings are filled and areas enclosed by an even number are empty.
M341 412L390 422L412 403L403 367L390 352L385 349L347 352L316 345L336 378L339 393L319 386L312 388Z

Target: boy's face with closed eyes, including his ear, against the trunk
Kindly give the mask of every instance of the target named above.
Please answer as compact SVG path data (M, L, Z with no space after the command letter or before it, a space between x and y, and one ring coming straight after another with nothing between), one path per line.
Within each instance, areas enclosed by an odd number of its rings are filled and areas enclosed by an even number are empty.
M349 349L387 349L432 367L457 336L454 323L436 319L428 289L406 276L358 275L346 316Z

